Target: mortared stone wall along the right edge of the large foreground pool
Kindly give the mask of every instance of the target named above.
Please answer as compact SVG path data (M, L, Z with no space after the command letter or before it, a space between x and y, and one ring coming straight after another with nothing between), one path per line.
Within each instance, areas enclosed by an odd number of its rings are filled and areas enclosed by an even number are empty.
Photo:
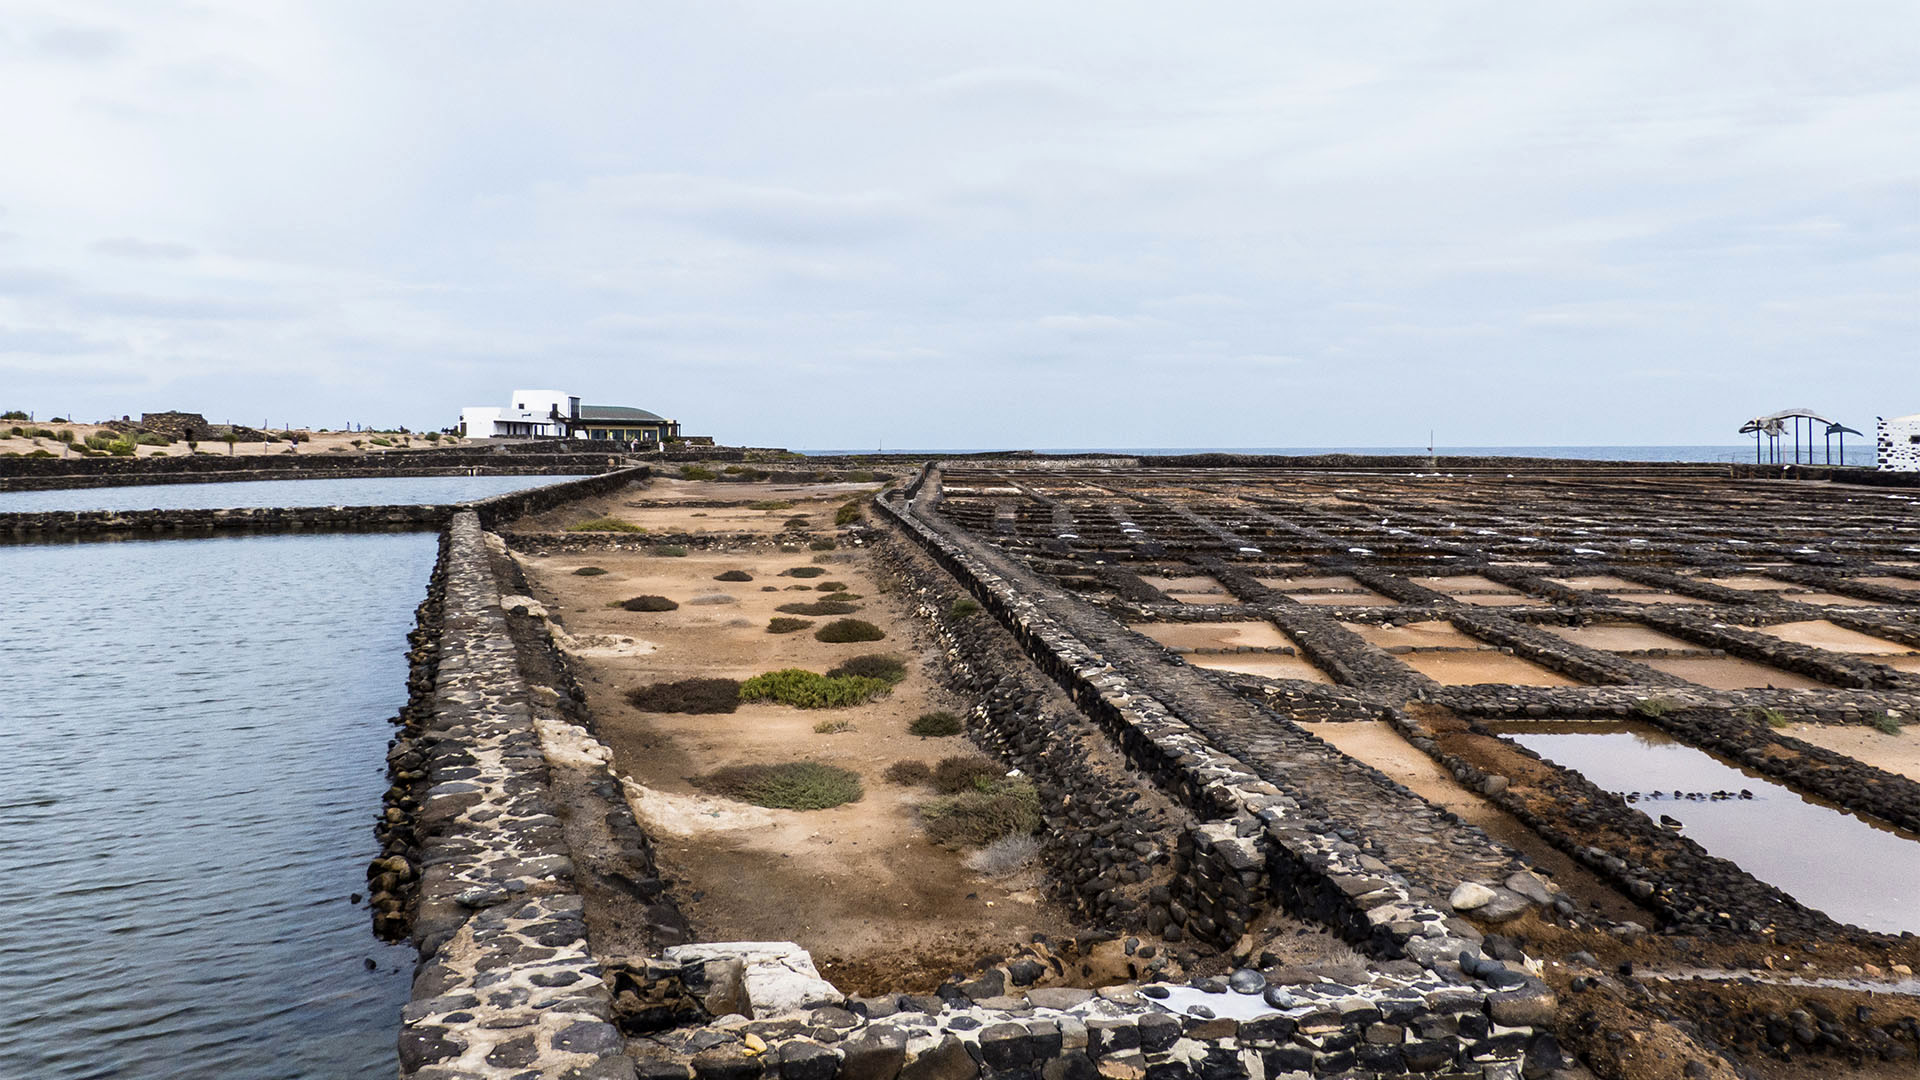
M480 515L457 513L388 755L386 853L369 867L376 928L411 928L420 953L399 1072L632 1078L488 557Z

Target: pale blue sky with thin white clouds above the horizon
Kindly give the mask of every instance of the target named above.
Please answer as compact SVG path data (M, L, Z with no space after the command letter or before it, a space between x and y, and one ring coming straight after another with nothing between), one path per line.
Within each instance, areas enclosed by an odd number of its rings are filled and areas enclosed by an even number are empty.
M0 0L0 409L818 448L1920 411L1920 6Z

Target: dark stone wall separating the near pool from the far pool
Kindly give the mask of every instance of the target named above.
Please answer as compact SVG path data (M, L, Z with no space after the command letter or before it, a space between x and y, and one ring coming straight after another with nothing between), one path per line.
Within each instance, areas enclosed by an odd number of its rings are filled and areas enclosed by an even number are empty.
M461 509L488 527L561 503L616 492L645 480L647 467L505 492L468 503L420 505L303 505L232 509L46 509L0 513L0 536L17 540L211 536L219 532L367 532L444 528ZM232 479L232 477L227 477Z

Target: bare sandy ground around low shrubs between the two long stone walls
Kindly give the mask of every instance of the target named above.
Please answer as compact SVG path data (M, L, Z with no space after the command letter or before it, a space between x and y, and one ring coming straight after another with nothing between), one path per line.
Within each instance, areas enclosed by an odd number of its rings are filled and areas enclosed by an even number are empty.
M739 492L737 484L728 494ZM632 498L628 496L628 502ZM831 509L835 503L828 503ZM818 513L820 507L812 507ZM647 519L653 509L622 509ZM710 513L710 511L708 511ZM760 511L755 511L760 513ZM789 517L783 513L778 521ZM831 517L828 517L831 521ZM820 578L780 577L789 567L824 565ZM536 596L582 638L628 636L655 646L639 655L582 657L588 701L614 749L614 771L630 784L630 803L659 842L676 894L705 940L793 940L814 951L824 974L847 990L927 990L989 951L1033 932L1071 932L1041 901L1035 880L989 880L962 855L929 844L914 811L924 788L887 784L881 773L900 759L939 761L970 753L964 738L916 738L906 724L929 709L962 703L929 678L933 653L860 552L781 553L770 546L657 557L632 552L520 555ZM584 565L601 577L576 577ZM722 571L751 582L716 582ZM860 594L860 619L887 640L824 644L810 630L768 634L774 607L820 600L822 580ZM806 590L791 588L806 584ZM762 592L772 586L776 592ZM659 594L682 607L634 613L609 603ZM730 596L730 603L693 603ZM818 619L816 625L826 623ZM852 709L741 705L732 715L666 715L634 709L626 690L691 676L747 678L781 667L828 671L845 657L885 651L910 659L910 676L876 703ZM822 719L854 730L816 734ZM701 794L689 778L722 765L822 761L862 774L866 796L826 811L774 811Z

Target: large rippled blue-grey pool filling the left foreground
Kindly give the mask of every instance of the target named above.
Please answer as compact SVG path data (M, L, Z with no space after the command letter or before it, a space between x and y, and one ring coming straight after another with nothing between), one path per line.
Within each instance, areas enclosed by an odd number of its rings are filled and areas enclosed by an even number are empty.
M413 951L348 894L436 546L0 548L0 1076L394 1074Z

